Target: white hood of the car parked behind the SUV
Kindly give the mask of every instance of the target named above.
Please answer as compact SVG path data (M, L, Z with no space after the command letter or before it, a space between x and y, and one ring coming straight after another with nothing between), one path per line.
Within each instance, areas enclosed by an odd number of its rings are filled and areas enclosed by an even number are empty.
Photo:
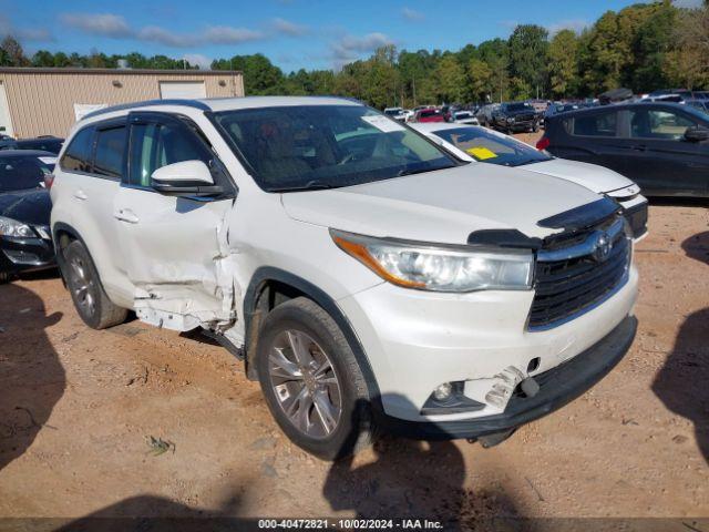
M604 166L565 158L527 164L524 170L568 180L597 193L617 191L634 184L627 177Z

